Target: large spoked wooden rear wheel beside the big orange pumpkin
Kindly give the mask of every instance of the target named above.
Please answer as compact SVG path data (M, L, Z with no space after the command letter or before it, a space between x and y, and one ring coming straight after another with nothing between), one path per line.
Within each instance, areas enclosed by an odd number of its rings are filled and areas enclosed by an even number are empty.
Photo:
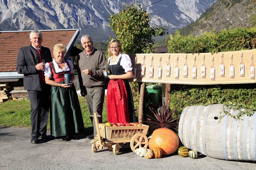
M147 148L148 147L147 136L144 135L143 133L135 134L131 139L130 147L133 152L135 151L136 148L140 148L140 147Z

